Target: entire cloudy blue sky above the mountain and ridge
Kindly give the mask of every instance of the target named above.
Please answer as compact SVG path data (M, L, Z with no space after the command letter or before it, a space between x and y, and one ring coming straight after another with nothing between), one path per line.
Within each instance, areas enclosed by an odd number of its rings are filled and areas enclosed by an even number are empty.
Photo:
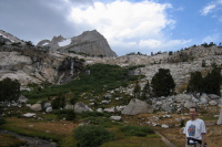
M31 41L97 30L119 55L222 42L222 0L0 0L0 30Z

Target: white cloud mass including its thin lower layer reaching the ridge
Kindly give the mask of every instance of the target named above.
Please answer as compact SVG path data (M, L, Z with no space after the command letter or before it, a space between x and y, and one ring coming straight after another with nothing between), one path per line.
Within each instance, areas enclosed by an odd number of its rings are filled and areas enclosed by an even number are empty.
M79 33L97 29L118 54L123 50L124 53L133 50L150 52L148 50L171 49L189 42L168 40L164 30L172 30L175 24L167 13L168 9L172 9L170 3L115 0L93 2L83 8L72 6L68 19Z

